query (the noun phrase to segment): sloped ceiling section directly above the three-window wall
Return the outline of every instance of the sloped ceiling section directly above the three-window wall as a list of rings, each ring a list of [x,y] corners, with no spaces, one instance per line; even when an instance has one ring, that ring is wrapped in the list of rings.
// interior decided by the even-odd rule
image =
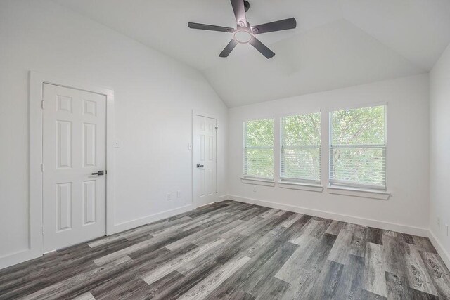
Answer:
[[[346,20],[278,41],[271,48],[277,55],[270,62],[248,53],[226,66],[203,71],[226,105],[236,107],[427,72]],[[236,72],[240,68],[243,72]]]

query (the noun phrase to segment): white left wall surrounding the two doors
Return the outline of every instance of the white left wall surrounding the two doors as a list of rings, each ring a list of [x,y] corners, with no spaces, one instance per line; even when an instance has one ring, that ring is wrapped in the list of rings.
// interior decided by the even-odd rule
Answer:
[[[120,230],[192,202],[192,110],[219,116],[224,195],[227,108],[204,77],[51,1],[0,1],[0,266],[28,247],[28,71],[115,91]],[[182,197],[167,202],[166,193]],[[138,221],[136,221],[138,220]]]

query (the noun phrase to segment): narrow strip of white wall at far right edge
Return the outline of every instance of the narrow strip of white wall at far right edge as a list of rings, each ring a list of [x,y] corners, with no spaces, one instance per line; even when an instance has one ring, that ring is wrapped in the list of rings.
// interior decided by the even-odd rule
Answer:
[[[430,231],[450,266],[450,46],[430,72]],[[441,225],[437,225],[440,218]],[[437,247],[437,248],[439,248]]]

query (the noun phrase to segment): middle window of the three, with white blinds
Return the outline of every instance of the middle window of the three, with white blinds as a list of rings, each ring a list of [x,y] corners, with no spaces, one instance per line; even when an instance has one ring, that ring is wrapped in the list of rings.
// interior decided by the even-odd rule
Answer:
[[[281,118],[281,181],[321,183],[321,113]]]

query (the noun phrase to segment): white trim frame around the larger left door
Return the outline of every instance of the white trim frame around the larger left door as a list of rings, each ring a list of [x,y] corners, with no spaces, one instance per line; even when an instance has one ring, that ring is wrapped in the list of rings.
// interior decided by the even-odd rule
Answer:
[[[105,234],[113,231],[114,227],[114,178],[115,178],[115,160],[114,160],[114,137],[115,137],[115,115],[114,115],[114,91],[102,86],[94,86],[83,82],[64,79],[55,76],[41,74],[39,72],[29,72],[29,243],[28,249],[21,252],[23,255],[17,257],[17,261],[8,263],[10,265],[20,261],[26,261],[41,256],[44,249],[44,234],[42,228],[43,219],[43,173],[41,164],[43,162],[43,110],[41,109],[41,101],[44,96],[44,84],[53,84],[71,89],[79,89],[89,91],[91,93],[99,93],[106,97],[106,224]],[[1,266],[0,266],[1,267]]]

